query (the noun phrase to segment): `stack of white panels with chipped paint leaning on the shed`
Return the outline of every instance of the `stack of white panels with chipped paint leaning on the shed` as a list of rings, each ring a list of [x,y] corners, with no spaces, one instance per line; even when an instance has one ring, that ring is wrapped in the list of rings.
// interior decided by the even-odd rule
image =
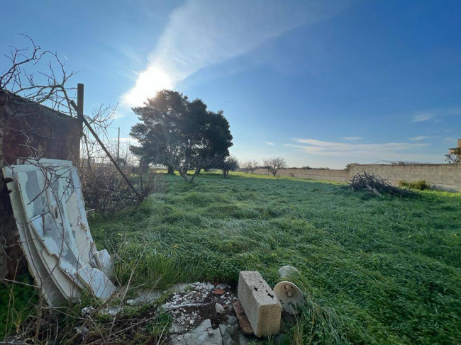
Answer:
[[[115,287],[109,252],[96,251],[77,169],[70,161],[18,160],[5,166],[13,213],[30,273],[48,304],[78,298],[82,289],[108,298]]]

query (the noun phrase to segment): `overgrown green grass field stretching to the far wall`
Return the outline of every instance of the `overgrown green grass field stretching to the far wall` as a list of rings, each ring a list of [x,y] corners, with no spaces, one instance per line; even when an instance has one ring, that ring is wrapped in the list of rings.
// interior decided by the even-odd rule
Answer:
[[[461,195],[378,198],[344,185],[234,173],[201,174],[112,220],[91,220],[117,275],[166,286],[236,283],[283,265],[307,304],[289,330],[300,344],[459,344]]]

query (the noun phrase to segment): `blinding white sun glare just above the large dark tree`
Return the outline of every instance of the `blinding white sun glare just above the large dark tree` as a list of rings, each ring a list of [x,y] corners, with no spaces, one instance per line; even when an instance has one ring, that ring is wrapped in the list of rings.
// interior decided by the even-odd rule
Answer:
[[[130,106],[141,106],[157,91],[172,87],[172,79],[159,67],[152,66],[139,74],[135,87],[123,96],[123,101]]]

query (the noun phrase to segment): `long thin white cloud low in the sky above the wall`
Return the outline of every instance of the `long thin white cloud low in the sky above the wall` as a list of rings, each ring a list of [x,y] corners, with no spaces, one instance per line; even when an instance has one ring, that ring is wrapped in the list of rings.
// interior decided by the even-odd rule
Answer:
[[[385,142],[382,144],[361,144],[355,142],[326,142],[316,139],[294,139],[287,147],[301,149],[307,154],[338,157],[360,157],[367,159],[404,159],[414,160],[421,157],[423,150],[430,144],[410,142]],[[416,155],[415,155],[416,154]],[[416,158],[415,158],[416,157]]]

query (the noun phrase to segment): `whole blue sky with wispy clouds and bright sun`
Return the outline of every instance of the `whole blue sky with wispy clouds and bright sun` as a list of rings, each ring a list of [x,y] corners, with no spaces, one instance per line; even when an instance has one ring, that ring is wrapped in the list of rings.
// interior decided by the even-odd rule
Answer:
[[[128,137],[130,107],[162,88],[222,109],[240,160],[436,163],[461,137],[460,1],[44,0],[1,11],[1,52],[26,45],[24,33],[65,57],[86,113],[118,103],[113,137]]]

